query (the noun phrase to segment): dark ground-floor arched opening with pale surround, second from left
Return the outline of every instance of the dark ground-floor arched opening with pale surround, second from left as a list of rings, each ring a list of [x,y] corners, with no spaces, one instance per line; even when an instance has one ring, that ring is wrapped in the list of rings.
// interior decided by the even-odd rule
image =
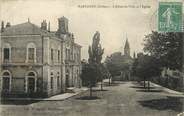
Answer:
[[[37,76],[36,73],[30,71],[26,74],[26,93],[34,93],[37,90]]]

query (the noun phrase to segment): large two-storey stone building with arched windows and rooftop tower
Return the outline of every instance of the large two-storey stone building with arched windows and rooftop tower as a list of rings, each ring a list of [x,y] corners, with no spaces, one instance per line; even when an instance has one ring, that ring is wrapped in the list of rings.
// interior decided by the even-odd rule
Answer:
[[[2,95],[52,96],[81,86],[81,46],[67,18],[58,19],[57,31],[46,20],[41,27],[2,22],[0,45]]]

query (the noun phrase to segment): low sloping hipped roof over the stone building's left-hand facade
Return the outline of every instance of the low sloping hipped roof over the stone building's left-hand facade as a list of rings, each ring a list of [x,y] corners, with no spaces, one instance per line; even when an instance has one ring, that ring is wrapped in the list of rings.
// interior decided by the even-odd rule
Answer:
[[[48,31],[41,29],[39,26],[32,24],[30,22],[21,23],[7,27],[2,32],[2,35],[40,35],[49,34]]]

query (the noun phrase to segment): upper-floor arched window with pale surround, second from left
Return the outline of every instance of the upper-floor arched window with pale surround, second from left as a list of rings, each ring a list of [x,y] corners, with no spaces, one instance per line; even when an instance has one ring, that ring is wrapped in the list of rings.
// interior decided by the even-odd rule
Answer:
[[[34,43],[29,43],[27,45],[26,62],[36,62],[36,46]]]

